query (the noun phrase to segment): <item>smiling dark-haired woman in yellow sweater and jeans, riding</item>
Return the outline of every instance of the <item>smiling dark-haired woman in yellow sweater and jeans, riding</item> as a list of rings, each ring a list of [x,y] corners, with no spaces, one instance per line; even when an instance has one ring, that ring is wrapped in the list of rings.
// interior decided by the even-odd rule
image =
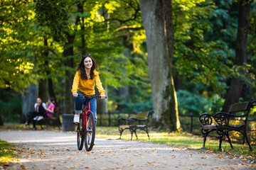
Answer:
[[[92,59],[90,54],[82,55],[82,60],[78,64],[77,72],[75,73],[75,78],[73,80],[73,86],[71,92],[73,93],[73,98],[75,100],[75,115],[74,123],[78,124],[80,120],[80,114],[82,113],[82,104],[85,98],[78,98],[78,95],[85,96],[95,96],[95,84],[100,93],[100,98],[105,99],[105,90],[102,87],[100,81],[99,72],[95,69],[97,64]],[[92,98],[90,100],[90,110],[95,115],[95,122],[97,122],[97,106],[96,99]]]

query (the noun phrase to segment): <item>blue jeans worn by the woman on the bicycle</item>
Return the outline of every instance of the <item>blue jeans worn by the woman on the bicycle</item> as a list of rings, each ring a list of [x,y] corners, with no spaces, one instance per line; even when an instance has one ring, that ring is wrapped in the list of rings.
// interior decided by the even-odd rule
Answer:
[[[78,94],[80,95],[84,95],[82,94],[80,91],[78,91]],[[95,96],[95,95],[93,95]],[[77,98],[77,97],[73,97],[75,100],[75,113],[82,113],[82,105],[85,102],[85,98]],[[87,103],[86,103],[87,105]],[[95,116],[95,123],[97,124],[97,101],[96,98],[91,98],[90,99],[90,110],[92,111],[92,113]]]

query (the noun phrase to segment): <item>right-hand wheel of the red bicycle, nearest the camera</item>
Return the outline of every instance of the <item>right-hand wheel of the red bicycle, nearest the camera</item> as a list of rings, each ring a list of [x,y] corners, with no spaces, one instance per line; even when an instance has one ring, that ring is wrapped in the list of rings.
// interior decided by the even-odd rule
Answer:
[[[87,129],[85,130],[85,149],[89,152],[95,142],[95,116],[92,112],[87,113]]]

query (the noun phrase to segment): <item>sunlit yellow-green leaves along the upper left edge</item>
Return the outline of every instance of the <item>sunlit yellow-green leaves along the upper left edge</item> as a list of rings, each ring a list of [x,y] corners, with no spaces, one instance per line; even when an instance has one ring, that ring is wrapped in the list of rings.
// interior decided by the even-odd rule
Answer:
[[[27,1],[2,1],[0,6],[0,88],[22,91],[35,83],[31,18]]]

